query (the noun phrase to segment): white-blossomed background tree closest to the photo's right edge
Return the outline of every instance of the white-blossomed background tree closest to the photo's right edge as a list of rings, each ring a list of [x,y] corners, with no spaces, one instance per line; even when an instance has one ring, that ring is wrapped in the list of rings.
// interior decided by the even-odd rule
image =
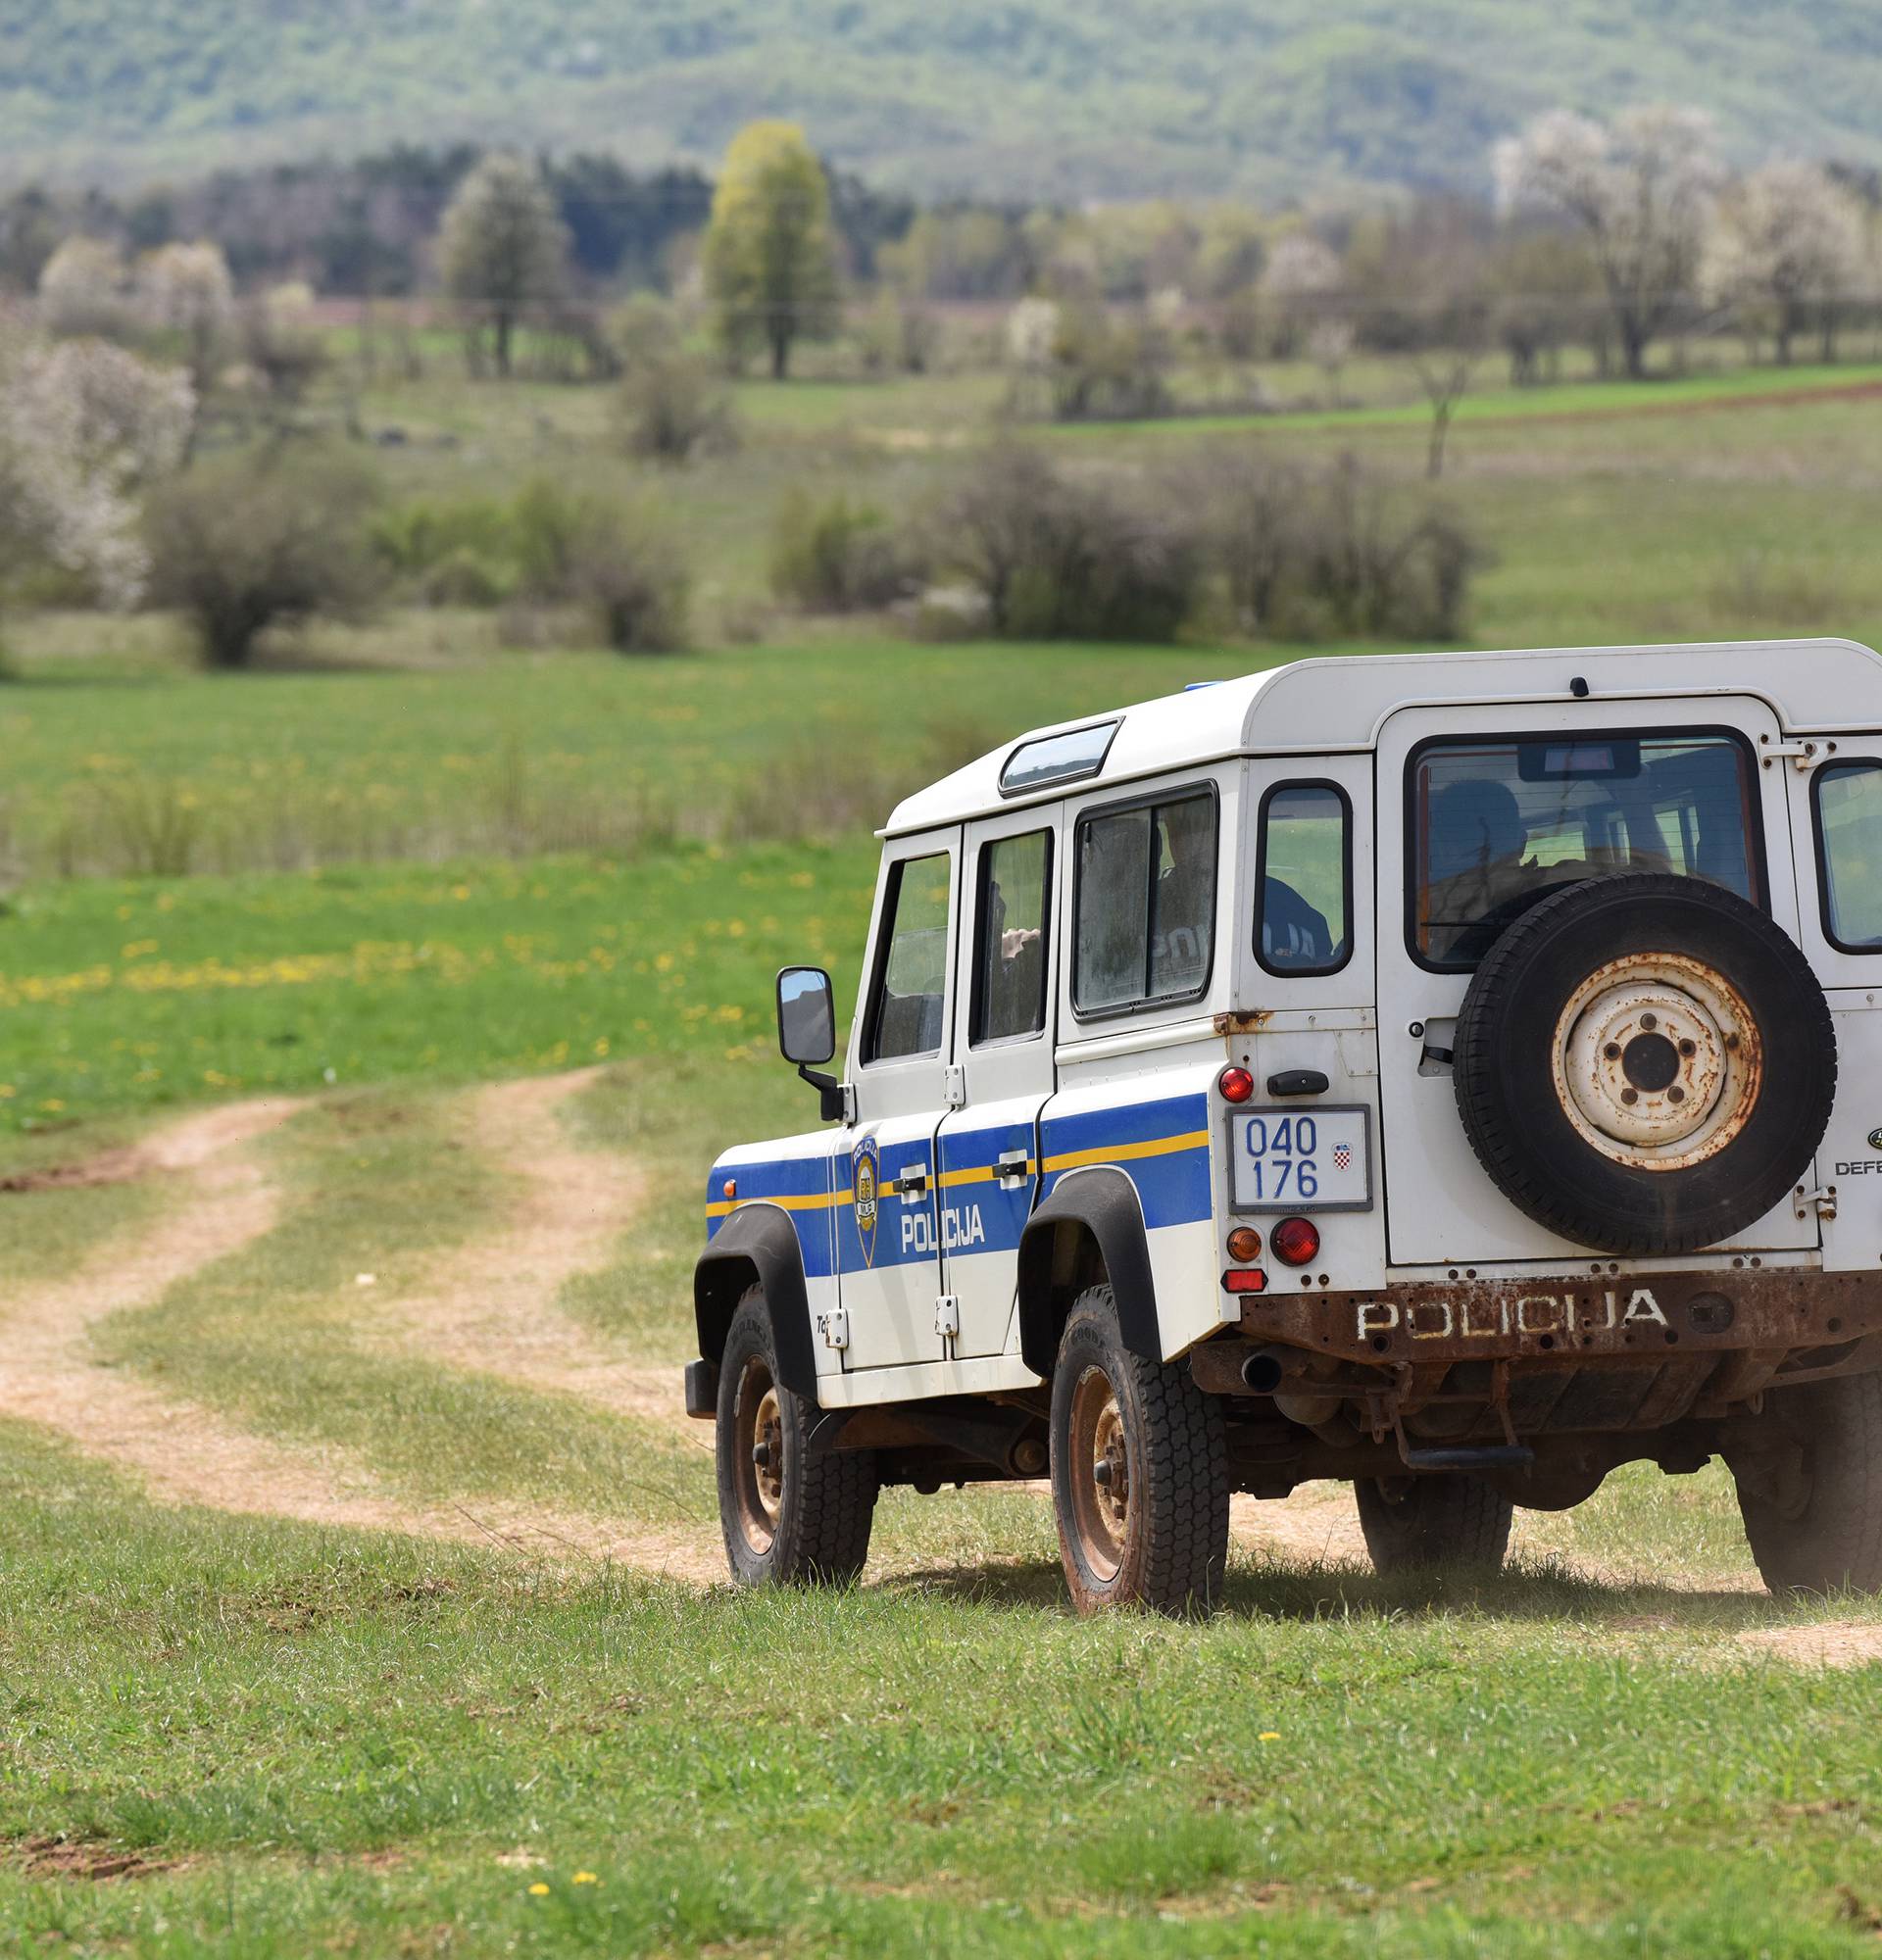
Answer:
[[[1835,351],[1841,302],[1860,296],[1866,274],[1862,214],[1813,163],[1776,161],[1753,171],[1719,206],[1708,253],[1708,288],[1749,323],[1768,323],[1778,361],[1811,318]]]

